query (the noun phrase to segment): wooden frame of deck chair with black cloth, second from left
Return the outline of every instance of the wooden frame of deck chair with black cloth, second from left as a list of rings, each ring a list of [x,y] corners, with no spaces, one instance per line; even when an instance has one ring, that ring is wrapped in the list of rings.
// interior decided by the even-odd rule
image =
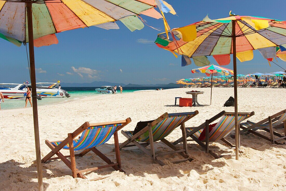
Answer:
[[[190,158],[190,156],[188,155],[188,147],[187,147],[187,141],[186,141],[186,131],[185,131],[185,122],[187,120],[189,120],[190,118],[194,117],[195,115],[198,114],[198,111],[196,110],[195,112],[192,112],[193,115],[187,117],[185,120],[182,121],[182,123],[180,124],[180,126],[182,127],[182,137],[184,137],[183,139],[183,149],[178,149],[176,148],[175,145],[173,145],[171,142],[167,141],[165,138],[160,139],[160,141],[162,141],[165,145],[167,145],[168,147],[170,147],[171,149],[173,149],[174,151],[170,151],[170,152],[165,152],[165,153],[159,153],[156,154],[155,153],[155,149],[154,149],[154,141],[153,141],[153,134],[152,134],[152,127],[154,127],[156,124],[158,124],[160,121],[162,121],[164,118],[168,117],[168,113],[164,113],[162,116],[160,116],[159,118],[157,118],[156,120],[154,120],[151,123],[148,123],[148,125],[146,127],[144,127],[142,130],[140,130],[138,133],[136,133],[135,135],[133,135],[132,137],[130,137],[129,135],[127,135],[126,132],[124,132],[123,130],[121,131],[121,133],[127,138],[127,140],[122,143],[119,146],[119,149],[122,148],[126,148],[126,147],[134,147],[137,146],[139,149],[141,149],[144,153],[146,153],[147,155],[149,155],[150,157],[152,157],[152,159],[154,161],[156,161],[157,163],[159,163],[160,165],[165,165],[165,163],[163,161],[161,161],[160,159],[158,159],[159,156],[164,156],[164,155],[168,155],[168,154],[174,154],[174,153],[178,153],[179,155],[182,155],[184,157],[184,159],[180,159],[180,160],[176,160],[176,161],[172,161],[172,163],[179,163],[179,162],[183,162],[183,161],[191,161],[192,158]],[[145,143],[138,143],[136,141],[136,139],[138,137],[140,137],[140,135],[142,135],[143,133],[145,133],[146,131],[149,131],[149,139],[150,142],[145,142]],[[129,143],[133,143],[133,145],[128,145]],[[146,147],[150,145],[150,150],[146,149]]]

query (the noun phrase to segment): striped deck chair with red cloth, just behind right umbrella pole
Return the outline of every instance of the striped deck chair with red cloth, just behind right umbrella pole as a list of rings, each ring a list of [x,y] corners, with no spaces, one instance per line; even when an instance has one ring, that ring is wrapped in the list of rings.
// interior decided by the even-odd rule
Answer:
[[[251,113],[241,113],[238,112],[238,123],[241,123],[243,120],[249,118],[250,116],[253,116],[254,112]],[[215,120],[219,119],[219,122],[212,128],[212,130],[209,132],[209,124],[214,122]],[[200,137],[200,134],[202,131],[206,129],[206,136],[205,139],[200,141],[198,138]],[[235,129],[235,116],[234,112],[225,112],[222,111],[216,116],[210,118],[209,120],[206,120],[203,124],[201,124],[198,127],[186,127],[186,136],[191,137],[192,139],[189,139],[187,141],[196,141],[201,147],[203,147],[206,151],[206,153],[210,153],[213,157],[216,159],[228,155],[228,154],[221,154],[217,155],[213,151],[215,150],[229,150],[229,149],[235,149],[235,146],[232,145],[229,141],[225,139],[229,133]],[[224,147],[224,148],[209,148],[209,142],[215,142],[221,140],[230,147]],[[175,141],[173,144],[176,145],[183,141],[183,137]],[[203,143],[205,142],[205,144]],[[231,155],[233,156],[233,155]]]

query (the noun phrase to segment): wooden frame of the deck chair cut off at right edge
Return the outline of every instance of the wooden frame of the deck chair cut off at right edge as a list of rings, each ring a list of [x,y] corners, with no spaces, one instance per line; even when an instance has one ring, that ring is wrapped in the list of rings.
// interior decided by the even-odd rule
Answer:
[[[277,142],[278,140],[281,140],[281,139],[284,139],[286,140],[286,120],[283,121],[282,124],[278,124],[277,126],[275,126],[275,128],[280,128],[280,127],[284,127],[284,136],[273,131],[273,126],[272,126],[272,123],[279,120],[280,116],[283,115],[284,113],[286,113],[286,109],[281,111],[281,112],[278,112],[277,114],[274,114],[272,116],[269,116],[268,118],[264,119],[264,120],[261,120],[249,127],[245,127],[243,126],[242,124],[240,124],[240,128],[242,129],[240,131],[240,134],[245,134],[247,132],[249,133],[252,133],[254,135],[257,135],[258,137],[261,137],[263,139],[266,139],[267,141],[271,141],[272,144],[277,144],[277,145],[284,145],[283,143],[279,143]],[[262,135],[261,133],[257,132],[256,130],[253,130],[253,128],[259,126],[259,125],[262,125],[262,124],[266,124],[266,123],[269,123],[269,129],[268,128],[260,128],[260,130],[264,130],[266,132],[269,132],[270,133],[270,139],[269,137],[266,137],[264,135]],[[258,130],[258,129],[257,129]],[[274,135],[279,137],[277,139],[274,138]]]

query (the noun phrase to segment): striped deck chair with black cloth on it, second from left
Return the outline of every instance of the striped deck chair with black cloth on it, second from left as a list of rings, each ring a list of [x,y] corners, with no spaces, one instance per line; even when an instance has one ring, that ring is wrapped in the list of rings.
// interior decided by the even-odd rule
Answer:
[[[175,145],[170,143],[165,139],[175,128],[178,126],[185,127],[185,122],[190,118],[194,117],[198,114],[198,111],[194,112],[187,112],[187,113],[164,113],[162,116],[157,118],[151,123],[148,123],[146,127],[140,130],[138,133],[133,135],[133,131],[121,131],[121,133],[128,139],[124,143],[122,143],[119,148],[122,149],[124,147],[133,147],[137,146],[141,149],[144,153],[152,157],[154,161],[159,163],[160,165],[165,165],[163,161],[158,159],[158,156],[178,153],[184,157],[184,159],[180,159],[177,161],[172,161],[172,163],[179,163],[182,161],[192,160],[187,154],[187,142],[186,139],[183,141],[183,149],[177,149]],[[185,128],[182,128],[182,136],[186,138]],[[168,147],[173,149],[174,151],[166,152],[166,153],[158,153],[155,154],[154,150],[154,142],[162,141]],[[142,143],[138,143],[142,142]],[[133,143],[133,145],[128,145]],[[146,147],[150,145],[150,149],[146,149]]]

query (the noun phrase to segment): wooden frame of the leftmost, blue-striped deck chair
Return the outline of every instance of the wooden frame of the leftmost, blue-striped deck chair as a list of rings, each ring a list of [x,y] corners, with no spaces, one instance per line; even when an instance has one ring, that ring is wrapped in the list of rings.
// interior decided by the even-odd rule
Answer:
[[[104,122],[104,123],[93,123],[90,124],[89,122],[85,122],[82,126],[80,126],[77,130],[75,130],[73,133],[68,133],[67,138],[57,146],[54,146],[52,142],[58,142],[58,141],[48,141],[46,140],[45,143],[46,145],[51,149],[51,151],[41,160],[42,163],[45,163],[46,161],[51,161],[55,159],[61,159],[67,167],[69,167],[72,170],[72,176],[73,178],[84,178],[87,179],[85,176],[83,176],[82,173],[87,172],[87,171],[93,171],[93,170],[98,170],[102,168],[107,168],[107,167],[112,167],[115,170],[119,170],[120,172],[125,172],[124,170],[121,169],[121,159],[120,159],[120,151],[119,151],[119,143],[118,143],[118,134],[117,132],[122,129],[124,126],[126,126],[128,123],[131,122],[130,118],[127,118],[126,120],[121,120],[121,121],[112,121],[112,122]],[[114,136],[114,146],[115,146],[115,155],[116,155],[116,163],[112,162],[108,157],[106,157],[103,153],[101,153],[98,149],[95,147],[93,148],[88,148],[84,149],[82,152],[75,154],[74,153],[74,145],[73,145],[73,140],[76,140],[75,138],[80,135],[84,130],[86,130],[88,127],[94,127],[94,126],[104,126],[104,125],[112,125],[112,124],[122,124],[117,128],[113,134]],[[69,144],[69,154],[67,156],[64,156],[60,150],[65,146]],[[76,159],[75,157],[77,156],[84,156],[86,155],[89,151],[94,152],[98,157],[100,157],[102,160],[104,160],[107,165],[104,166],[99,166],[99,167],[93,167],[93,168],[88,168],[84,170],[79,170],[76,168]],[[53,155],[57,155],[57,157],[53,157]],[[52,158],[53,157],[53,158]],[[70,161],[67,159],[70,158]],[[96,178],[92,180],[99,180],[101,178]],[[92,181],[91,180],[91,181]]]

